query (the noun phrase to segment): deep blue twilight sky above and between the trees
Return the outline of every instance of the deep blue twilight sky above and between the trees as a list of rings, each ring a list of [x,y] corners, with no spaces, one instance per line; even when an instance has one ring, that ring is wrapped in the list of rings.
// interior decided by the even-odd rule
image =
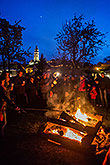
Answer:
[[[110,0],[0,0],[0,17],[11,24],[22,20],[24,49],[31,46],[34,55],[36,45],[40,55],[50,60],[56,52],[54,38],[65,20],[84,14],[85,21],[94,19],[101,32],[108,32],[110,44]],[[94,60],[102,61],[110,55],[110,48],[104,48]]]

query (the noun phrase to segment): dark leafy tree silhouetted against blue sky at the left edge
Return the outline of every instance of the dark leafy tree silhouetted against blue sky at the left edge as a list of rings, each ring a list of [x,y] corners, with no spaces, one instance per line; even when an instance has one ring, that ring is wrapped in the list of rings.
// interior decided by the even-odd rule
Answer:
[[[6,61],[10,71],[10,62],[25,61],[26,57],[30,57],[29,49],[24,51],[22,48],[22,31],[24,27],[19,25],[21,21],[11,25],[6,19],[0,18],[0,56],[3,62],[4,71],[6,69]]]

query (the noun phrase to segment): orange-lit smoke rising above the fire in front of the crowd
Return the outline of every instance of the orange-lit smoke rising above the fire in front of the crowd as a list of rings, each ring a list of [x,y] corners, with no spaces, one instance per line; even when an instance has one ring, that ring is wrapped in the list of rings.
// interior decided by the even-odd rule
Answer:
[[[96,113],[95,108],[91,105],[86,94],[78,91],[79,82],[74,87],[72,83],[64,84],[64,81],[59,80],[59,83],[52,88],[53,96],[47,97],[47,105],[52,111],[47,111],[47,117],[58,118],[62,111],[72,114],[80,108],[81,112],[87,114]]]

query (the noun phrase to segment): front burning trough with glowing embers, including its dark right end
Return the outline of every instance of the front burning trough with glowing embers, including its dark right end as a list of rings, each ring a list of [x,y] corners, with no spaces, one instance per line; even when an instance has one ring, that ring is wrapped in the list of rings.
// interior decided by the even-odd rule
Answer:
[[[70,149],[91,150],[91,142],[95,134],[91,137],[86,132],[59,124],[59,121],[48,121],[41,130],[42,136],[48,141],[65,146]]]

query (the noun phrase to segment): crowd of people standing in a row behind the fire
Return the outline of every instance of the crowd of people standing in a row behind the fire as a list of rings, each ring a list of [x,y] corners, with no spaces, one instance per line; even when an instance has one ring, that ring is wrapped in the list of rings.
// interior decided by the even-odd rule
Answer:
[[[7,111],[10,107],[18,112],[24,107],[52,107],[65,100],[72,108],[88,100],[93,106],[108,108],[110,102],[110,79],[104,73],[92,76],[68,75],[57,76],[44,73],[31,76],[19,71],[16,77],[10,78],[9,72],[0,76],[0,122],[4,121],[2,134],[7,123]],[[7,110],[8,109],[8,110]]]

